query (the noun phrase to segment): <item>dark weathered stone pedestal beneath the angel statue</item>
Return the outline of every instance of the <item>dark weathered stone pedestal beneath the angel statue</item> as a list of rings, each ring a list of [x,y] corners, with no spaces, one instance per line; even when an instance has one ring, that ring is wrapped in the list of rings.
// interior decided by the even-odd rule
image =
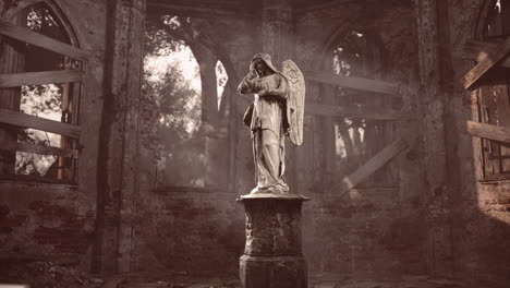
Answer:
[[[240,259],[243,288],[306,288],[296,194],[248,194],[238,201],[246,213],[246,244]]]

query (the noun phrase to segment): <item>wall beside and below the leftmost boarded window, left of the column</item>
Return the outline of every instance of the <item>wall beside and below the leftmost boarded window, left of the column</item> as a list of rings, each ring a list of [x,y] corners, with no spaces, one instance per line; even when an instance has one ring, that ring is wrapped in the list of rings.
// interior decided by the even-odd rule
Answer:
[[[96,167],[105,61],[106,3],[59,0],[89,51],[82,94],[83,149],[77,185],[0,182],[0,262],[13,259],[80,264],[88,271],[96,204]]]

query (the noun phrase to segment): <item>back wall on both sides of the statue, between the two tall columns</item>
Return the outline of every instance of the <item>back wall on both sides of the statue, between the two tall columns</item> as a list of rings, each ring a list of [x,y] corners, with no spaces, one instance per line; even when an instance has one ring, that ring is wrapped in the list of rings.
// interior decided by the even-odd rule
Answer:
[[[320,60],[317,56],[338,31],[371,29],[378,35],[385,51],[381,77],[401,83],[402,106],[417,109],[414,11],[411,5],[397,5],[379,12],[375,17],[367,17],[359,14],[359,9],[338,8],[300,14],[295,19],[293,60],[304,71],[314,69],[314,61]],[[209,33],[224,46],[220,49],[226,49],[228,59],[221,61],[231,64],[228,73],[235,85],[262,47],[260,26],[255,16],[214,20],[212,23],[215,28]],[[232,25],[239,29],[227,28]],[[139,201],[144,207],[138,207],[135,221],[137,268],[157,266],[175,272],[236,274],[238,257],[244,244],[244,213],[235,197],[253,188],[254,167],[250,134],[241,122],[250,99],[235,94],[234,97],[236,108],[232,109],[235,111],[232,118],[235,124],[230,130],[235,147],[231,151],[234,185],[222,193],[197,189],[157,192],[150,185],[154,176],[147,169]],[[317,101],[313,89],[307,97],[312,103]],[[416,118],[402,119],[398,122],[399,133],[417,131],[418,124]],[[306,116],[305,143],[296,148],[298,176],[291,176],[295,179],[291,189],[312,199],[304,204],[303,217],[304,251],[311,274],[332,273],[337,279],[427,274],[426,205],[420,146],[413,144],[394,159],[400,175],[400,184],[394,189],[354,190],[343,195],[325,193],[314,189],[309,180],[314,173],[311,158],[312,143],[316,141],[314,125],[314,117]]]

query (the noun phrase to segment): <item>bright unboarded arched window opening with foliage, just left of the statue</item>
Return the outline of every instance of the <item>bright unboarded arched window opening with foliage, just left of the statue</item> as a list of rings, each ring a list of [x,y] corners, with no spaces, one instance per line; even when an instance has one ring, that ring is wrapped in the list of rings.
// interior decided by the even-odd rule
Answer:
[[[148,15],[146,22],[144,92],[160,113],[157,189],[217,187],[221,177],[212,171],[227,170],[218,169],[228,158],[218,154],[227,141],[229,77],[211,48],[195,40],[201,31],[193,21]]]

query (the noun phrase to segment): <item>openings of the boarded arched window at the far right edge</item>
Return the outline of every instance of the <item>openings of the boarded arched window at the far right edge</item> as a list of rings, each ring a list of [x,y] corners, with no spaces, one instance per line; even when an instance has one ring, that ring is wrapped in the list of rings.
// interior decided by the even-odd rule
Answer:
[[[485,43],[500,43],[510,36],[510,0],[484,3],[475,37]],[[481,80],[478,121],[510,128],[510,73],[495,67]],[[510,179],[510,144],[482,139],[484,180]]]

